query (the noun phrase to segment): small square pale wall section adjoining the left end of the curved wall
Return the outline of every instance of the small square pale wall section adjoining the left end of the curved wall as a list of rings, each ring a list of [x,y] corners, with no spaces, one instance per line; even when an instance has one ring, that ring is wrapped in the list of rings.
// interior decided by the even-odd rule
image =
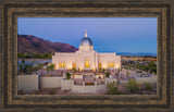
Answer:
[[[70,90],[72,89],[72,79],[62,79],[61,80],[61,90]]]

